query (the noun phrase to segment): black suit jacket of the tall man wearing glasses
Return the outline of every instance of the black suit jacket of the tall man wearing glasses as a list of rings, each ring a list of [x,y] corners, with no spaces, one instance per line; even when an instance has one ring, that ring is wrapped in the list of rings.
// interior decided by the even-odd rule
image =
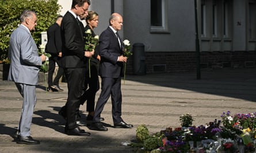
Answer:
[[[87,58],[84,56],[85,41],[83,40],[83,27],[69,11],[64,15],[61,24],[62,35],[62,66],[64,68],[82,68],[86,66]]]

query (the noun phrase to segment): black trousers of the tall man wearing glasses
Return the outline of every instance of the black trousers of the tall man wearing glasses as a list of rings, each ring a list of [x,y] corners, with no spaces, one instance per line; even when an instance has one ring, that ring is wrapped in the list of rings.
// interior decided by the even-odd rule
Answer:
[[[77,127],[77,111],[81,104],[82,83],[84,83],[86,68],[65,68],[67,78],[68,97],[66,103],[67,129]]]

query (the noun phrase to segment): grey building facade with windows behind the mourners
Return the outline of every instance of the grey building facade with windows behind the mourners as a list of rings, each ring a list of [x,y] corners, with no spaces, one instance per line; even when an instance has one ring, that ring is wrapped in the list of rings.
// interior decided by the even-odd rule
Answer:
[[[67,0],[59,3],[63,14],[70,9]],[[99,35],[111,13],[123,15],[120,36],[135,45],[127,73],[143,74],[254,67],[255,7],[256,0],[91,0],[90,10],[99,14]]]

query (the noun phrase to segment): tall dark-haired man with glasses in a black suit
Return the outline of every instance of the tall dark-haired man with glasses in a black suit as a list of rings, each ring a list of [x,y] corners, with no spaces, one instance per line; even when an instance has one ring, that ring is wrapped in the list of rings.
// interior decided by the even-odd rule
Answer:
[[[76,123],[87,57],[94,54],[94,51],[84,50],[83,27],[78,19],[78,15],[87,14],[89,5],[89,0],[73,0],[71,10],[68,10],[62,19],[62,66],[68,85],[68,97],[65,105],[67,118],[65,133],[67,135],[90,135],[89,132],[81,130]]]

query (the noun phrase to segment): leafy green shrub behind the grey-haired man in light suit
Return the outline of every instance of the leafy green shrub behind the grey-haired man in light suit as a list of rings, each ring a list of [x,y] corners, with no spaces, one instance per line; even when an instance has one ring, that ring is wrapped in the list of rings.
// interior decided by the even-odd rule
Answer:
[[[37,26],[32,36],[39,46],[41,32],[45,32],[54,22],[61,6],[58,0],[6,0],[0,2],[0,61],[6,61],[8,56],[10,34],[20,23],[23,10],[33,10],[37,13]]]

